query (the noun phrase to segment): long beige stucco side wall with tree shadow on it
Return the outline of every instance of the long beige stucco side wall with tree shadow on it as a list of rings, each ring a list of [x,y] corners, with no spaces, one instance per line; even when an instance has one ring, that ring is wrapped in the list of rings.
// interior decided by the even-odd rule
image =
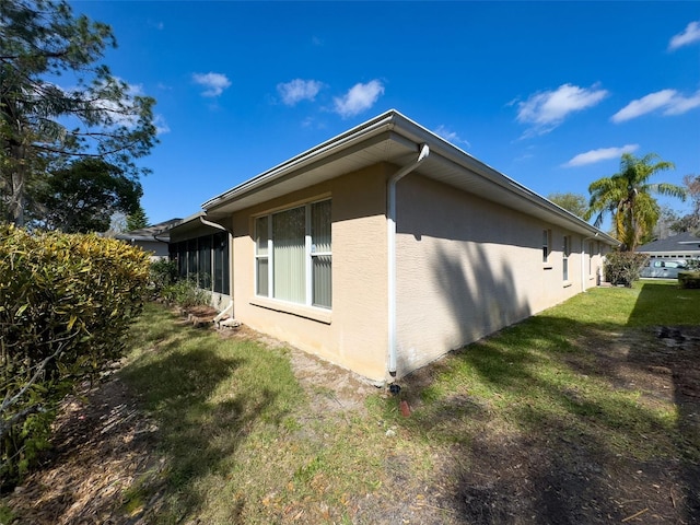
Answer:
[[[545,229],[551,230],[547,265]],[[567,234],[572,253],[564,282]],[[581,242],[581,235],[417,174],[399,182],[398,375],[580,292]],[[595,284],[595,275],[585,278],[586,287]]]

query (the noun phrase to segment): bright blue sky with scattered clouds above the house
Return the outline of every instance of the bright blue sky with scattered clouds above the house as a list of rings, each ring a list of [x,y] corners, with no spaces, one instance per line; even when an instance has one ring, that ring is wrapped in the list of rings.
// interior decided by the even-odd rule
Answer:
[[[544,196],[587,197],[626,151],[700,175],[699,2],[71,4],[158,101],[152,223],[390,108]]]

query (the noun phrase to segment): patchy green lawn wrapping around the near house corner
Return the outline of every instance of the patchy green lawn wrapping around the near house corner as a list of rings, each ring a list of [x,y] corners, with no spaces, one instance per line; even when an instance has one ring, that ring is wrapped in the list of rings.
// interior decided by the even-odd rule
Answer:
[[[396,499],[397,480],[404,490],[436,483],[445,456],[483,439],[546,440],[564,462],[585,450],[698,463],[700,442],[673,400],[625,384],[591,349],[630,334],[651,341],[656,325],[700,325],[698,292],[669,282],[590,290],[451,354],[427,386],[407,381],[410,418],[380,394],[366,412],[314,410],[310,395],[329,394],[304,390],[283,349],[149,306],[120,374],[159,422],[164,466],[125,494],[125,513],[159,493],[149,523],[372,523],[358,509]]]

